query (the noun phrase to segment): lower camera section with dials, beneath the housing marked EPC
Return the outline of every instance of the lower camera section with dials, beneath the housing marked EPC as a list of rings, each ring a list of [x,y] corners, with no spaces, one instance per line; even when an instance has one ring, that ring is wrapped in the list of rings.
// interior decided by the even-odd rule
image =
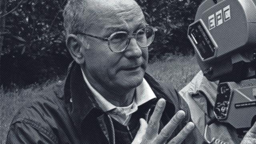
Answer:
[[[256,121],[256,79],[220,83],[214,114],[219,122],[231,124],[244,135]]]

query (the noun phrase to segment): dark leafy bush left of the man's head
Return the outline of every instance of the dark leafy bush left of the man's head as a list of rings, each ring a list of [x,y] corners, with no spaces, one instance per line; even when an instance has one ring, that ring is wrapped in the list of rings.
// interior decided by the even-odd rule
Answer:
[[[66,50],[62,10],[66,0],[8,0],[0,82],[20,86],[65,74]]]

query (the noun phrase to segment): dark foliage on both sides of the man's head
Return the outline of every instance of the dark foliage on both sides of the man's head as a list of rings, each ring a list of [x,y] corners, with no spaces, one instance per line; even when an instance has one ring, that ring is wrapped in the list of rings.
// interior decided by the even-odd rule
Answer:
[[[202,0],[136,0],[155,26],[150,60],[166,54],[193,54],[186,33]],[[6,32],[0,54],[4,88],[42,83],[66,74],[72,58],[66,50],[62,11],[67,0],[8,0]],[[4,12],[0,12],[0,16]]]

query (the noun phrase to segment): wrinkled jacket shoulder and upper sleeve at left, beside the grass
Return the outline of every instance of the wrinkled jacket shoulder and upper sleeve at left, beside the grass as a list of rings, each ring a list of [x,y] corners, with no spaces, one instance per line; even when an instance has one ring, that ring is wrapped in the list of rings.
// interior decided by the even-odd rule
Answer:
[[[12,119],[7,143],[16,143],[16,140],[21,143],[58,142],[54,129],[67,116],[59,90],[60,86],[52,84],[44,90],[26,93],[29,98],[21,102],[21,108]]]

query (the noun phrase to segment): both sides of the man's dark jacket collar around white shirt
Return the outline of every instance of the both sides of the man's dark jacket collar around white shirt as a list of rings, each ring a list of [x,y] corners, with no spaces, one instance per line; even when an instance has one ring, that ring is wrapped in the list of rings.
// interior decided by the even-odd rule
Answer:
[[[173,97],[170,96],[172,94],[164,91],[159,83],[156,82],[150,75],[145,74],[144,78],[152,88],[157,99],[164,98],[170,105],[173,105],[173,102],[170,99]],[[167,96],[170,97],[168,98]],[[84,118],[86,118],[86,116],[88,116],[88,114],[91,112],[93,112],[93,116],[95,117],[99,117],[104,114],[104,112],[97,106],[95,100],[93,99],[92,92],[84,82],[80,65],[74,61],[68,68],[68,75],[66,77],[66,83],[64,86],[64,100],[68,106],[70,116],[78,129]],[[156,99],[150,100],[147,103],[151,103],[152,101],[156,102]]]

